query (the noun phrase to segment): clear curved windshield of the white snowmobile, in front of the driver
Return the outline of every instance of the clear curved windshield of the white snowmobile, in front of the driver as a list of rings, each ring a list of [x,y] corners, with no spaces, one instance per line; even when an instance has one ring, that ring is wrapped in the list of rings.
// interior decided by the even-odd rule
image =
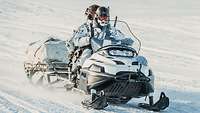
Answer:
[[[106,46],[120,45],[133,48],[137,53],[141,46],[139,39],[131,32],[126,22],[112,20],[106,30],[94,34],[91,45],[94,52]]]

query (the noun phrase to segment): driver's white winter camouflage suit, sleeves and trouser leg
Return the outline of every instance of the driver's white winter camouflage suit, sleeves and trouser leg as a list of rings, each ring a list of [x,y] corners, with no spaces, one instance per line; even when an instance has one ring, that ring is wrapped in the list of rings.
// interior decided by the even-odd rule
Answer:
[[[92,54],[92,49],[88,47],[90,45],[90,38],[101,37],[100,35],[104,35],[105,34],[104,32],[106,31],[106,26],[103,27],[102,30],[98,27],[94,27],[94,26],[92,27],[94,28],[94,37],[91,37],[90,23],[86,22],[78,28],[73,38],[71,39],[75,47],[84,48],[82,55],[80,56],[79,61],[78,61],[78,65],[80,66],[84,63],[86,58],[89,58]],[[122,42],[122,40],[127,39],[125,38],[124,34],[119,32],[114,27],[111,27],[109,29],[109,32],[110,32],[110,37],[113,37],[114,40]],[[105,38],[105,35],[102,37]],[[109,39],[109,40],[113,40],[113,39]],[[130,40],[126,40],[126,41],[129,41],[130,43]]]

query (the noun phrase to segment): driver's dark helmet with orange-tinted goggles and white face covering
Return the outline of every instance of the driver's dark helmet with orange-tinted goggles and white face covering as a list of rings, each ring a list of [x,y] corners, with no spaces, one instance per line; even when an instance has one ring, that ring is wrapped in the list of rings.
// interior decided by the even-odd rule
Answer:
[[[106,7],[99,7],[96,11],[96,18],[99,25],[107,25],[109,20],[109,9]]]

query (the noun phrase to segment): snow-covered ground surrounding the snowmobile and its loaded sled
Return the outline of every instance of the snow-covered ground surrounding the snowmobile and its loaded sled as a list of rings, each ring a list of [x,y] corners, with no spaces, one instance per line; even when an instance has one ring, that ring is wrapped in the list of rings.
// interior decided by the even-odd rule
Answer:
[[[108,1],[108,2],[107,2]],[[156,75],[156,93],[170,98],[166,113],[200,113],[200,1],[198,0],[0,0],[1,113],[144,113],[132,99],[105,110],[81,107],[83,95],[31,86],[23,70],[27,45],[47,36],[68,39],[85,21],[84,10],[110,6],[142,41]]]

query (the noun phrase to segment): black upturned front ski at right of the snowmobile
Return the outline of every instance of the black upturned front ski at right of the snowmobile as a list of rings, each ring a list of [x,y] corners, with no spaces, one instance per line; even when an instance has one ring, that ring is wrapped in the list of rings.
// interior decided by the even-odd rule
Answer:
[[[153,97],[151,97],[149,98],[149,104],[139,103],[138,106],[143,109],[159,112],[169,106],[169,98],[165,96],[164,92],[161,92],[160,99],[155,104],[153,104]]]

